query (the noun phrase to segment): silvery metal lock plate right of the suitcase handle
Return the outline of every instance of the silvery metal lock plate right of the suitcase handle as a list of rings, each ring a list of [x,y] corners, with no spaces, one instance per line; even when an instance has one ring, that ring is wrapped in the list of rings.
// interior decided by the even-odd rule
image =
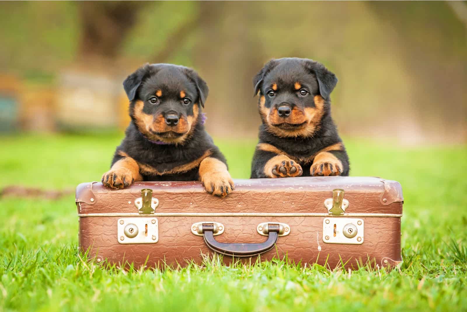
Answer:
[[[363,244],[363,219],[324,218],[323,241],[329,244]]]

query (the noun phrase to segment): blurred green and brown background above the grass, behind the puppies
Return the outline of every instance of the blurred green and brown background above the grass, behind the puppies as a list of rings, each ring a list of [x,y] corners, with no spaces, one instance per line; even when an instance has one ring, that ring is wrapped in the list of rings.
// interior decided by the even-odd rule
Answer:
[[[123,79],[175,63],[207,81],[211,134],[255,138],[252,77],[271,58],[307,57],[339,78],[343,135],[465,142],[466,11],[465,1],[3,1],[0,128],[123,129]]]

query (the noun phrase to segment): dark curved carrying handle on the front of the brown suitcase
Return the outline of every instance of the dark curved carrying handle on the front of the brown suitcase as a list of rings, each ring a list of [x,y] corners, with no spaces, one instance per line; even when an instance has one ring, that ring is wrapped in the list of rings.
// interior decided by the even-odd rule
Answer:
[[[207,247],[221,253],[236,257],[260,255],[274,247],[279,237],[279,224],[268,224],[268,239],[262,243],[221,243],[214,238],[214,224],[202,224],[202,233]]]

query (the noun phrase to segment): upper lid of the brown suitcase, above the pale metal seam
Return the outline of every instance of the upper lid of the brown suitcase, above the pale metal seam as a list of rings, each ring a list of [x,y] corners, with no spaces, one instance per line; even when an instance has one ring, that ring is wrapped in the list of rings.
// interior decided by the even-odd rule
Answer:
[[[343,215],[402,215],[402,187],[378,177],[289,177],[234,180],[225,198],[207,193],[200,182],[135,182],[125,189],[109,189],[100,182],[79,184],[78,215],[290,215],[326,216],[333,207],[333,190],[343,190],[348,205]],[[152,208],[142,209],[142,189],[152,190]],[[342,193],[337,191],[337,193]],[[337,195],[336,193],[336,195]],[[146,193],[148,194],[148,193]],[[149,195],[146,195],[149,196]],[[325,201],[327,200],[326,204]],[[334,200],[335,201],[335,200]],[[334,205],[339,206],[339,205]],[[142,210],[140,210],[142,209]]]

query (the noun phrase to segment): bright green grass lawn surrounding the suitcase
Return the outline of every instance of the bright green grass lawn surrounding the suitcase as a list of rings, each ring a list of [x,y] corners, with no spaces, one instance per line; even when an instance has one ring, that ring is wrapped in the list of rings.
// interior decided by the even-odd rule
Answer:
[[[121,133],[0,137],[0,188],[74,188],[99,180]],[[351,273],[283,261],[124,271],[77,253],[74,196],[0,199],[0,311],[467,310],[467,147],[400,147],[347,139],[353,176],[403,186],[399,270]],[[236,178],[255,140],[217,140]]]

